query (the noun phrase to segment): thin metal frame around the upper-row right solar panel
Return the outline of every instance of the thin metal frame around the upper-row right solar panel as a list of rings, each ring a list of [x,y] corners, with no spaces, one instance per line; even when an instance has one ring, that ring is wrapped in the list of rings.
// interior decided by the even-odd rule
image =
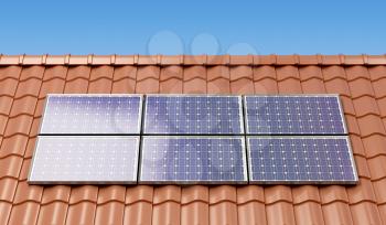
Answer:
[[[247,115],[247,97],[335,97],[337,105],[339,105],[339,111],[340,117],[342,120],[343,126],[343,133],[258,133],[258,132],[250,132],[248,127],[248,115]],[[311,136],[344,136],[349,133],[347,125],[344,117],[343,111],[343,105],[342,100],[340,98],[340,94],[275,94],[275,95],[267,95],[267,94],[254,94],[254,95],[244,95],[243,96],[243,108],[244,108],[244,120],[245,120],[245,133],[246,135],[278,135],[278,136],[293,136],[293,135],[311,135]]]

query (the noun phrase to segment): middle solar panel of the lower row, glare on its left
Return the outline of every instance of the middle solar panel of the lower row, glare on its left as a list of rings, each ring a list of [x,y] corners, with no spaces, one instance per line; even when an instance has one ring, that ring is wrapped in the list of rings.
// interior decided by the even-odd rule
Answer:
[[[143,137],[141,183],[246,183],[244,138]]]

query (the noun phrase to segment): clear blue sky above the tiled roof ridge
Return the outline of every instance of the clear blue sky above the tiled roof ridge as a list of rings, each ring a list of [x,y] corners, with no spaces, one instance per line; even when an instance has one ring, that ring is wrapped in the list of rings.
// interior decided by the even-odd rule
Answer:
[[[386,1],[1,1],[3,54],[385,54]]]

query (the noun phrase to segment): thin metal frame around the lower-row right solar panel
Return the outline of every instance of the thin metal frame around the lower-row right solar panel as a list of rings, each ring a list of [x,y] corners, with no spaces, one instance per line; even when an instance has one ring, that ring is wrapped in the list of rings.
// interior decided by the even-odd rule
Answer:
[[[253,158],[250,156],[250,139],[344,139],[347,143],[350,162],[354,180],[254,180],[253,179]],[[352,150],[352,144],[349,136],[248,136],[246,138],[247,162],[248,162],[248,180],[249,184],[356,184],[358,182],[358,174],[356,163]]]

